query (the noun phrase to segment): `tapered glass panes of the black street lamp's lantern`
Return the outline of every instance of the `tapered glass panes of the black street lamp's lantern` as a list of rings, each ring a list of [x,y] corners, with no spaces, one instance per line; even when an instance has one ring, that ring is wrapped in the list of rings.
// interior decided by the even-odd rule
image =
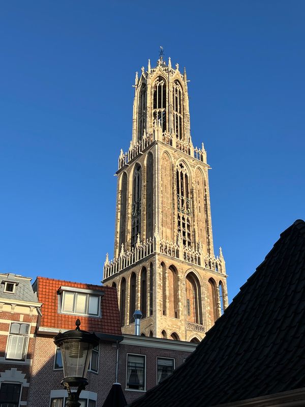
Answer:
[[[93,345],[79,340],[64,342],[60,346],[65,377],[86,377]]]

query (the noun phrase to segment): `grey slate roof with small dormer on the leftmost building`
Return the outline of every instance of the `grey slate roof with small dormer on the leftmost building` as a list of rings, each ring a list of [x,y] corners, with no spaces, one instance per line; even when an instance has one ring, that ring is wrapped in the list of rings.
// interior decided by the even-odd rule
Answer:
[[[23,277],[18,274],[0,274],[0,297],[7,298],[12,301],[28,301],[28,302],[38,302],[37,295],[33,292],[32,278]],[[5,282],[15,282],[16,287],[14,293],[4,293]]]

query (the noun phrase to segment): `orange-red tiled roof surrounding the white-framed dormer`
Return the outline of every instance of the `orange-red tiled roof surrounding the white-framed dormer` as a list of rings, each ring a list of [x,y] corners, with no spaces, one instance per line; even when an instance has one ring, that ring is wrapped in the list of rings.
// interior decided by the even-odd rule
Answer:
[[[105,294],[101,300],[102,316],[97,318],[84,315],[67,315],[58,313],[57,290],[62,285],[103,291]],[[79,318],[81,322],[80,328],[85,331],[121,335],[116,288],[114,287],[37,277],[37,296],[39,302],[43,303],[41,308],[41,327],[74,329],[75,321]]]

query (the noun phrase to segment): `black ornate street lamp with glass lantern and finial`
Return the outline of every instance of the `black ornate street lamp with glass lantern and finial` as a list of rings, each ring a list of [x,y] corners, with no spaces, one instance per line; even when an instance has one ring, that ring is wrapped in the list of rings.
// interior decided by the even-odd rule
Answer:
[[[88,384],[86,379],[92,350],[99,344],[99,338],[94,333],[79,329],[79,319],[75,322],[76,329],[64,333],[59,332],[54,338],[56,346],[60,347],[63,358],[64,379],[62,385],[68,391],[67,407],[79,407],[80,392]],[[76,392],[71,387],[77,387]]]

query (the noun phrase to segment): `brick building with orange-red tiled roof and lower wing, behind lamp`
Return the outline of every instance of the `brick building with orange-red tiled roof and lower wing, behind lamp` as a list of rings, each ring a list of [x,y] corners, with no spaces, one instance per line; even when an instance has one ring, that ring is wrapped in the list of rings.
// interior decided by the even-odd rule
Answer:
[[[65,405],[67,391],[60,385],[62,358],[53,337],[59,330],[74,329],[77,318],[81,329],[100,338],[90,361],[89,384],[81,392],[81,407],[102,407],[117,381],[132,402],[171,374],[196,348],[190,342],[123,336],[114,287],[43,277],[33,287],[42,303],[42,316],[36,331],[28,407]]]

